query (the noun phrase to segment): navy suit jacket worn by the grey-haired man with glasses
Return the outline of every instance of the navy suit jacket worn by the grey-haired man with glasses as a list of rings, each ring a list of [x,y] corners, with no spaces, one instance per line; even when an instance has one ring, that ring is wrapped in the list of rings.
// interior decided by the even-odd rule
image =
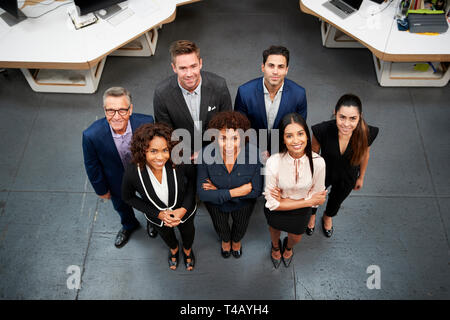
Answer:
[[[139,113],[130,116],[133,132],[145,123],[153,123],[153,117]],[[104,195],[110,191],[112,196],[121,198],[125,168],[106,118],[95,121],[83,131],[83,156],[86,173],[95,193]]]

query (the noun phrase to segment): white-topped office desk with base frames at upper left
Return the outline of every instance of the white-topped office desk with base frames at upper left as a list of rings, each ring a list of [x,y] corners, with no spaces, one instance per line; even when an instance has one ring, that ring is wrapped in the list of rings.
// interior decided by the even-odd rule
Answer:
[[[108,55],[154,54],[158,27],[175,19],[177,6],[196,1],[199,0],[129,0],[128,13],[133,13],[129,18],[117,25],[99,19],[79,30],[67,14],[73,4],[38,19],[28,18],[13,27],[2,20],[0,67],[21,68],[35,91],[95,92]],[[23,11],[33,15],[33,11],[39,13],[42,7]],[[136,40],[143,53],[127,47]],[[37,72],[43,77],[39,78]]]

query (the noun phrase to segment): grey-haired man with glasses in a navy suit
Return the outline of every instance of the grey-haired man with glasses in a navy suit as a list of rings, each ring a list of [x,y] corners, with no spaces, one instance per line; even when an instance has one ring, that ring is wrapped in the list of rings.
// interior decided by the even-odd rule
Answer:
[[[84,166],[95,193],[102,199],[110,199],[120,215],[122,228],[115,246],[121,248],[140,226],[133,209],[121,199],[124,168],[131,161],[131,138],[142,124],[153,123],[153,117],[133,114],[131,95],[121,87],[105,91],[103,108],[105,117],[83,131]],[[157,234],[149,230],[149,235]]]

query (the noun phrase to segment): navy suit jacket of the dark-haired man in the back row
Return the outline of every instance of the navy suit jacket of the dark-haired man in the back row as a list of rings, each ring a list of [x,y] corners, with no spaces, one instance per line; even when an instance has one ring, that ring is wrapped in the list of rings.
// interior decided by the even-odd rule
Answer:
[[[253,129],[267,129],[262,77],[251,80],[239,87],[234,102],[234,110],[245,114],[250,120]],[[299,113],[306,120],[305,89],[294,81],[284,79],[280,108],[273,123],[273,128],[278,129],[281,119],[291,112]]]

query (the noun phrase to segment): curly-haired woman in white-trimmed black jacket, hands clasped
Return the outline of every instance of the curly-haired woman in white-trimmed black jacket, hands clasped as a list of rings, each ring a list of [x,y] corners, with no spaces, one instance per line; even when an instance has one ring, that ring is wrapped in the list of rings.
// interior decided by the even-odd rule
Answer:
[[[172,270],[178,266],[179,246],[174,230],[178,227],[184,263],[190,271],[195,264],[195,175],[183,165],[173,165],[171,135],[172,129],[163,123],[145,124],[136,130],[131,141],[133,164],[123,176],[122,199],[155,225],[169,246]]]

